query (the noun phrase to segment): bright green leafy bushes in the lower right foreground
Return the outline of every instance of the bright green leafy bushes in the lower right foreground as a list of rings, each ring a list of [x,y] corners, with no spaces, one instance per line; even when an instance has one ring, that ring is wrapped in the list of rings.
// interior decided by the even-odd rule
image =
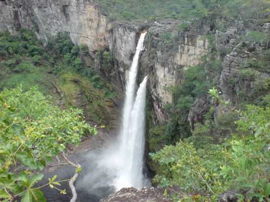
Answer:
[[[249,201],[253,197],[266,201],[270,196],[270,108],[247,105],[241,116],[238,134],[222,145],[209,144],[208,138],[190,137],[151,153],[158,163],[154,182],[208,193],[213,201],[225,190],[235,188],[245,190]],[[200,147],[196,149],[190,139],[199,140]]]

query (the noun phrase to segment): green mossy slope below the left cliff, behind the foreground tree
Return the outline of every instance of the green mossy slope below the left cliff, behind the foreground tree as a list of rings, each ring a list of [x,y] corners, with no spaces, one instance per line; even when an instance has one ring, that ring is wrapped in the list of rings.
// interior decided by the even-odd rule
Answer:
[[[43,46],[32,31],[21,29],[17,35],[0,32],[0,50],[0,90],[37,86],[54,103],[81,108],[92,123],[110,128],[105,103],[115,94],[92,67],[83,65],[80,52],[88,54],[87,46],[74,45],[67,33],[59,33]]]

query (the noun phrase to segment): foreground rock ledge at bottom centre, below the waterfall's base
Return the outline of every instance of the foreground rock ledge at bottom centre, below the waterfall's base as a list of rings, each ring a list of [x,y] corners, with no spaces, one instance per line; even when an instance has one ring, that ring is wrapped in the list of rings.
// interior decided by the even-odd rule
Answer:
[[[163,193],[162,188],[123,188],[108,198],[102,199],[101,202],[171,202],[172,200],[164,197]]]

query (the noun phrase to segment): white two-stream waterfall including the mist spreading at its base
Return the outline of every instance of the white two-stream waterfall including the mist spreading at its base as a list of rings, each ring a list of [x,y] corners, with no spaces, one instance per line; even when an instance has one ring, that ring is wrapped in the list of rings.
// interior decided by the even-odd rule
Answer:
[[[141,33],[132,66],[127,74],[126,97],[122,114],[122,127],[117,142],[111,142],[101,154],[94,154],[97,168],[89,171],[81,182],[81,187],[91,184],[92,192],[104,186],[113,186],[116,191],[124,187],[142,188],[150,185],[144,176],[144,132],[145,97],[147,76],[136,92],[137,66],[146,32]],[[136,93],[136,97],[135,97]]]

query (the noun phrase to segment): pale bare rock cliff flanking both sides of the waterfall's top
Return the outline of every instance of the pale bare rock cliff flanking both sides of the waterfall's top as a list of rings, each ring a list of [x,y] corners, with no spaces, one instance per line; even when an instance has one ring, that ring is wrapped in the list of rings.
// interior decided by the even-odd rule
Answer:
[[[141,74],[150,75],[150,94],[156,114],[155,122],[165,122],[165,103],[172,101],[169,87],[182,82],[180,70],[199,63],[208,49],[208,41],[197,30],[176,32],[179,21],[155,22],[151,25],[112,23],[102,14],[93,0],[0,0],[0,30],[16,32],[21,27],[36,31],[40,39],[49,40],[58,32],[69,32],[75,44],[86,44],[89,54],[84,55],[88,66],[111,82],[118,92],[125,86],[125,71],[132,62],[139,32],[148,29],[145,51],[140,64]],[[200,28],[200,30],[202,30]],[[168,44],[160,33],[173,33]],[[99,50],[109,50],[116,63],[102,69],[95,60]]]

